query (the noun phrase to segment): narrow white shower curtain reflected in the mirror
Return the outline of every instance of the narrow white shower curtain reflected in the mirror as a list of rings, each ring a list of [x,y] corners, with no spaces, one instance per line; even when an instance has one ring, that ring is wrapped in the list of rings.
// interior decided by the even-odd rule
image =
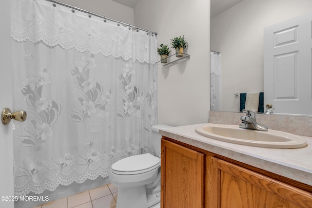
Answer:
[[[210,110],[221,111],[221,54],[210,52]]]

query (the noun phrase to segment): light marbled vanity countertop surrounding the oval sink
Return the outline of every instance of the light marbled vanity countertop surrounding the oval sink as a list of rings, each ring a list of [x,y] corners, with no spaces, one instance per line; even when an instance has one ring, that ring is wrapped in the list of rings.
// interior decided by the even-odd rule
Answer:
[[[203,124],[159,130],[161,135],[312,186],[312,137],[298,149],[260,148],[207,138],[195,132]]]

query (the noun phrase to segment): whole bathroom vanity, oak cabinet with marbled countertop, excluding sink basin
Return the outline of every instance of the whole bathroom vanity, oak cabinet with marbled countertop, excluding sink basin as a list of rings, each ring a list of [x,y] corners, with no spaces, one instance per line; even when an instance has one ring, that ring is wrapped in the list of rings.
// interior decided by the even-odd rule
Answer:
[[[198,125],[160,130],[161,208],[312,208],[312,138],[298,149],[207,138]]]

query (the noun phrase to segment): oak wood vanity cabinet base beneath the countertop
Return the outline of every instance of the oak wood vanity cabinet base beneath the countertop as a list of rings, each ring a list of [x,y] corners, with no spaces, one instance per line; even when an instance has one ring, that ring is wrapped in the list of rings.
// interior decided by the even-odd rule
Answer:
[[[311,191],[172,141],[161,141],[161,208],[312,208]]]

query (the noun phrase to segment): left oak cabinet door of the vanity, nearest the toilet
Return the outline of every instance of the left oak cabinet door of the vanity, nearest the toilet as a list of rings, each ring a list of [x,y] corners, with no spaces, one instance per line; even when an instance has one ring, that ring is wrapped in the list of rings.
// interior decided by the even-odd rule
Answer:
[[[161,208],[203,208],[204,155],[161,140]]]

